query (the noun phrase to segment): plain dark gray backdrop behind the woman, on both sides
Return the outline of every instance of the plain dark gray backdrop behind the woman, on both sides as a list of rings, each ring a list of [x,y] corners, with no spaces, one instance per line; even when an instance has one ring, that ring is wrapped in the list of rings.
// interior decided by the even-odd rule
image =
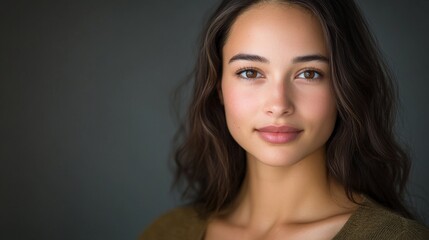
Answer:
[[[399,81],[410,191],[428,223],[429,1],[358,2]],[[215,5],[1,1],[0,239],[135,239],[180,203],[169,94]]]

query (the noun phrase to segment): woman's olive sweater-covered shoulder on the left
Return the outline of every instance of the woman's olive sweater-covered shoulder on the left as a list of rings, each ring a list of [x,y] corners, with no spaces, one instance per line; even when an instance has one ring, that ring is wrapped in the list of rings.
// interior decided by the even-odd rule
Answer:
[[[201,239],[206,221],[193,207],[174,208],[156,219],[140,236],[140,240]]]

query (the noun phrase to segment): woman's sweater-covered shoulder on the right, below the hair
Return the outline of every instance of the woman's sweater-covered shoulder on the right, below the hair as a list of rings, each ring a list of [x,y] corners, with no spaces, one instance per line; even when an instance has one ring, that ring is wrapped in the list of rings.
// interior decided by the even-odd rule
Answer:
[[[373,200],[366,200],[335,239],[429,239],[429,229],[400,216]]]

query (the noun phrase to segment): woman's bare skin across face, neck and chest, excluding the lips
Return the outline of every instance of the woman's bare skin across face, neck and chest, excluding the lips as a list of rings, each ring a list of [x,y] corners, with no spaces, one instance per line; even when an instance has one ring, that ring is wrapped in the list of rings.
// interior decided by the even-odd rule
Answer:
[[[332,239],[357,205],[326,171],[337,110],[317,18],[284,3],[242,13],[223,48],[219,95],[248,165],[238,198],[209,221],[205,239]],[[267,141],[259,131],[267,126],[299,133]]]

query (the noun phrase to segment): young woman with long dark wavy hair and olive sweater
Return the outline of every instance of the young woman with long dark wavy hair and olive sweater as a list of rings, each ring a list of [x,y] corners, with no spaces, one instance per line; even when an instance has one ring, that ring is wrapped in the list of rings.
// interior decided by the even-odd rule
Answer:
[[[191,204],[141,239],[429,239],[394,97],[352,0],[223,1],[175,154]]]

